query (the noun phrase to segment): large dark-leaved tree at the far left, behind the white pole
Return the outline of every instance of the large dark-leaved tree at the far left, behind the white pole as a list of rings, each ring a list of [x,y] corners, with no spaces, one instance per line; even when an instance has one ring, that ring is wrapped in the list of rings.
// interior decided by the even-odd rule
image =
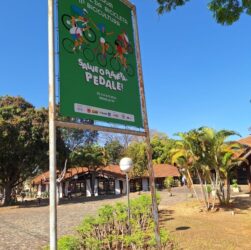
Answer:
[[[0,142],[0,186],[9,205],[13,188],[48,167],[47,110],[35,109],[22,97],[0,97]]]

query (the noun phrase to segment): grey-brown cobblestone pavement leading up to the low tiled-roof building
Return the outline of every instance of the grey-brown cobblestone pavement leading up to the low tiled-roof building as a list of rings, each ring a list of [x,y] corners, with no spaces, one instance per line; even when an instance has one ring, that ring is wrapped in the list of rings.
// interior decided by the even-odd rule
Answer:
[[[160,206],[171,206],[186,201],[188,190],[186,187],[173,188],[173,196],[166,191],[160,192]],[[130,194],[136,197],[137,194]],[[113,204],[125,201],[126,196],[79,198],[66,201],[58,206],[58,235],[71,234],[74,227],[80,224],[86,215],[94,215],[103,204]],[[0,250],[41,249],[49,242],[49,206],[28,204],[27,207],[0,208]]]

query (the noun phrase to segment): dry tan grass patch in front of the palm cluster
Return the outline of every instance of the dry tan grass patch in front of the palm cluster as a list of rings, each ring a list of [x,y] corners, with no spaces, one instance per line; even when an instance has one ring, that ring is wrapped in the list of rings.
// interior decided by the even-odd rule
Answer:
[[[179,203],[160,211],[160,223],[178,249],[251,250],[251,198],[236,198],[217,212],[201,212],[197,202]]]

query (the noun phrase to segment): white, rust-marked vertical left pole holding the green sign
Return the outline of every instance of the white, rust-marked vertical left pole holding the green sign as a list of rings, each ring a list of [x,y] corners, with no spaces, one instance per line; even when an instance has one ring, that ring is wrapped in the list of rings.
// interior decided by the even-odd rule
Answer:
[[[54,62],[54,0],[48,0],[48,48],[49,48],[49,159],[50,159],[50,249],[57,249],[56,203],[56,109]]]

